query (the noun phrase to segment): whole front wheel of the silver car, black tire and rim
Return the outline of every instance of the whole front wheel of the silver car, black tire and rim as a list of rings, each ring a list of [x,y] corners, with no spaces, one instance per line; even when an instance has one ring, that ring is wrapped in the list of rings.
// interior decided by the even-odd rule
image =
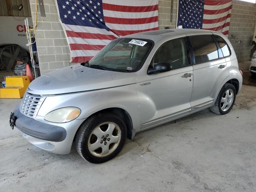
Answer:
[[[76,150],[91,163],[103,163],[122,150],[126,137],[126,125],[118,115],[96,114],[80,126],[75,138]]]

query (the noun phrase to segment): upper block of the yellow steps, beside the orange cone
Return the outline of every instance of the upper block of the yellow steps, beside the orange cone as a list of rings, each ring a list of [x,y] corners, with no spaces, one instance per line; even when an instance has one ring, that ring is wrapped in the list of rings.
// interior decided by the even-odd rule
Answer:
[[[10,76],[5,78],[6,87],[28,87],[30,80],[28,76]]]

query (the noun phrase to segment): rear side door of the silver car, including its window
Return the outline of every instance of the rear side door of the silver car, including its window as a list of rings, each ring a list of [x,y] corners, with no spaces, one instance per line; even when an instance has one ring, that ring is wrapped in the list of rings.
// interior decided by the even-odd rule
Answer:
[[[189,36],[192,47],[192,111],[212,105],[219,85],[228,77],[226,60],[212,34]]]

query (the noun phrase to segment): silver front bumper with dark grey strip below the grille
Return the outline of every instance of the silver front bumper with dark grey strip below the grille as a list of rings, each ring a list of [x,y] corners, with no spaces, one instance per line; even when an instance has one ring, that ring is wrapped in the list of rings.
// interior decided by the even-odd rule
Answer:
[[[46,122],[44,117],[29,118],[14,110],[15,127],[22,136],[33,145],[56,154],[69,154],[76,131],[85,119],[76,119],[67,123]]]

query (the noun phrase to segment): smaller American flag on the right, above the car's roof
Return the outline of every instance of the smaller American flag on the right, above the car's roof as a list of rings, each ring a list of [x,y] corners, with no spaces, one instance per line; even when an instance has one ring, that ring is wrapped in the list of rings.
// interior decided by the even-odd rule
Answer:
[[[228,35],[231,0],[179,0],[177,25]]]

